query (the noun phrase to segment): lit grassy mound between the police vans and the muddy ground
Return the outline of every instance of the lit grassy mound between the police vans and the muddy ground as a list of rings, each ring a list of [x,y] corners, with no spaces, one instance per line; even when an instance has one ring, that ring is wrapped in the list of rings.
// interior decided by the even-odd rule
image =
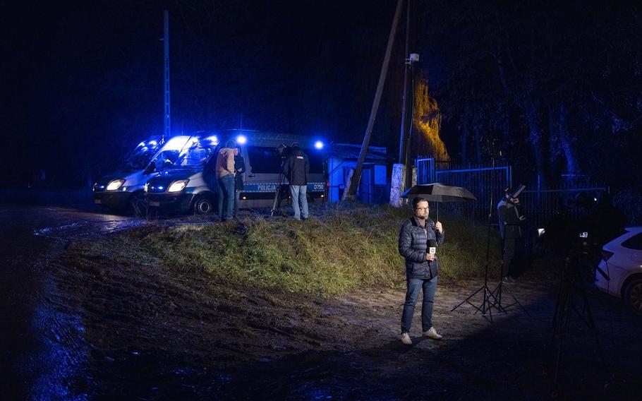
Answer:
[[[323,296],[403,282],[397,234],[411,215],[409,208],[330,205],[315,214],[320,217],[307,222],[252,216],[209,225],[145,225],[107,240],[75,244],[68,257],[77,263],[152,264],[239,285]],[[438,250],[440,275],[482,275],[485,225],[447,215],[441,220],[447,241]],[[492,232],[491,260],[500,258],[498,241]]]

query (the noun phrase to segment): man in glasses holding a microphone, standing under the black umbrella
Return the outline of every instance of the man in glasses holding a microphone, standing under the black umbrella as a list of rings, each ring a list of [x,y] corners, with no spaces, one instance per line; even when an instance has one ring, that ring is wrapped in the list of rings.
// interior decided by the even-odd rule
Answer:
[[[399,253],[406,259],[406,302],[401,313],[401,342],[412,345],[410,326],[419,293],[423,290],[421,304],[421,331],[426,337],[440,340],[442,335],[432,326],[432,306],[435,303],[439,263],[435,250],[444,243],[441,222],[433,222],[428,214],[430,207],[425,198],[414,198],[413,217],[399,229]]]

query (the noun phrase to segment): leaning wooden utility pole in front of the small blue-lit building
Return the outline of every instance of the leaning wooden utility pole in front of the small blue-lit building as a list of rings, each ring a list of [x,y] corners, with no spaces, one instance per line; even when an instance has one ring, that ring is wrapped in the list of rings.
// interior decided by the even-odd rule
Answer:
[[[361,180],[361,171],[363,170],[363,162],[365,161],[365,155],[368,153],[368,145],[370,144],[370,135],[373,133],[373,126],[375,125],[375,118],[377,116],[377,110],[379,109],[379,103],[381,100],[381,94],[383,92],[383,85],[386,81],[386,74],[388,72],[388,65],[390,61],[390,54],[392,53],[392,44],[394,43],[394,35],[396,34],[396,27],[399,25],[399,16],[401,16],[401,6],[404,4],[404,0],[397,0],[396,10],[394,11],[394,19],[392,20],[392,28],[390,28],[390,35],[388,37],[388,45],[386,47],[386,55],[383,59],[383,65],[381,67],[381,73],[379,74],[379,83],[377,83],[377,92],[375,92],[375,100],[373,100],[373,108],[370,110],[370,119],[368,119],[368,126],[365,128],[365,135],[363,136],[363,144],[361,145],[361,152],[359,152],[359,159],[357,160],[357,166],[354,169],[351,179],[346,183],[346,189],[344,191],[343,200],[354,200],[357,188],[359,186],[359,181]]]

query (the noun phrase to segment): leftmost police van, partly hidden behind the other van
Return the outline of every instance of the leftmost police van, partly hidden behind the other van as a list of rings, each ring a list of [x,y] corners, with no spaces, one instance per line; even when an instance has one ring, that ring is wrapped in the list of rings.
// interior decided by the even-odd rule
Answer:
[[[174,164],[190,136],[174,136],[164,143],[152,137],[139,143],[116,172],[102,176],[92,190],[94,203],[116,211],[138,212],[145,207],[143,188],[148,179]]]

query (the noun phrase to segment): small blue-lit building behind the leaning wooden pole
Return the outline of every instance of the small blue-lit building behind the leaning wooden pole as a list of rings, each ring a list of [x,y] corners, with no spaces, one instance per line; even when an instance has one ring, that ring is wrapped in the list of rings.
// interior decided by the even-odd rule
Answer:
[[[356,168],[361,145],[333,143],[327,150],[328,201],[339,202],[350,171]],[[363,163],[357,199],[364,203],[387,203],[389,198],[388,164],[392,160],[386,148],[370,146]]]

